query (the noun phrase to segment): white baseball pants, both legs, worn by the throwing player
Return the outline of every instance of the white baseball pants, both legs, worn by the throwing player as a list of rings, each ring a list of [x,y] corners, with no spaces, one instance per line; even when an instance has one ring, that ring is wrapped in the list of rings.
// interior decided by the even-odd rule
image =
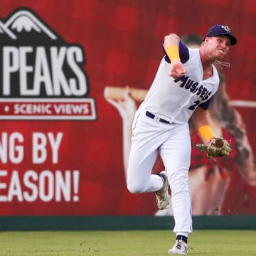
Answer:
[[[191,137],[188,124],[161,123],[158,119],[146,117],[146,110],[139,109],[132,124],[127,171],[127,188],[131,193],[161,189],[161,177],[151,174],[158,153],[164,162],[171,187],[174,233],[191,233],[191,193],[188,188]]]

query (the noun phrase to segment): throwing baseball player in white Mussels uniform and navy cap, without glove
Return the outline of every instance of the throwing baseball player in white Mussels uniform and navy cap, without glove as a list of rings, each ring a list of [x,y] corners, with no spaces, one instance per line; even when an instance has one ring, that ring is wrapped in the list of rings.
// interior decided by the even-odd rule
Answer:
[[[236,43],[225,25],[211,27],[199,49],[187,48],[174,33],[165,36],[164,58],[134,117],[127,188],[131,193],[154,192],[157,206],[164,209],[169,204],[170,186],[176,233],[170,255],[187,254],[188,235],[192,233],[188,119],[194,119],[205,142],[216,137],[207,115],[219,84],[215,65],[222,63],[220,60]],[[158,154],[165,171],[151,174]]]

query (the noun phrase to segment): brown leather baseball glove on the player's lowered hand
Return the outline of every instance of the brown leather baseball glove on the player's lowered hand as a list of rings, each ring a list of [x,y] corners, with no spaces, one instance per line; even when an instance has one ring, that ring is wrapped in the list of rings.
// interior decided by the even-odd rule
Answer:
[[[217,156],[229,156],[231,153],[231,146],[223,137],[213,137],[207,144],[196,144],[196,147],[201,152],[206,152],[211,159]]]

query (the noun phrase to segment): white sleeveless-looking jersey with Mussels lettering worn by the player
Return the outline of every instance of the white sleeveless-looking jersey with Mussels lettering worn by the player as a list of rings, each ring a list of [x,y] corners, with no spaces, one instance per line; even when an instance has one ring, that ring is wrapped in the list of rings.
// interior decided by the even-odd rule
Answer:
[[[141,107],[171,123],[183,124],[198,105],[206,102],[218,89],[218,71],[213,65],[213,76],[203,80],[203,66],[199,49],[188,48],[189,58],[183,63],[186,75],[174,80],[169,76],[171,64],[161,60],[148,94]]]

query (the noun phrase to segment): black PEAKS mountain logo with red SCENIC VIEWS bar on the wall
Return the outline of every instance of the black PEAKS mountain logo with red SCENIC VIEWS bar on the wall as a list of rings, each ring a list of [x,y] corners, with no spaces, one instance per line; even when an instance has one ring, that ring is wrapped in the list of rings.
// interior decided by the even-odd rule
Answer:
[[[31,9],[0,20],[0,119],[96,119],[85,50]]]

